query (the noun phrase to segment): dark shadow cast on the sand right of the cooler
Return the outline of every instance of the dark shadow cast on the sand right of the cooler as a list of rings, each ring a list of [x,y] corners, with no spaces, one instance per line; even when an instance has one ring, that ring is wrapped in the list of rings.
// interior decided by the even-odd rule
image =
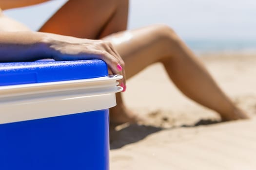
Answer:
[[[211,119],[201,119],[197,121],[194,125],[181,125],[181,126],[174,126],[169,129],[176,129],[180,127],[196,127],[200,125],[210,125],[215,123],[220,123],[221,121],[211,120]],[[150,134],[159,132],[161,130],[166,130],[166,128],[149,126],[149,125],[138,125],[138,124],[131,124],[127,125],[126,127],[115,130],[114,125],[110,126],[110,149],[118,149],[127,144],[138,142]]]

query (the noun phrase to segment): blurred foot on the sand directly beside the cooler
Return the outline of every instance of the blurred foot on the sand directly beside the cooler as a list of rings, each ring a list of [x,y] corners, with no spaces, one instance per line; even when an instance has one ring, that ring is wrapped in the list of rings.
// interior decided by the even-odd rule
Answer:
[[[110,108],[109,119],[111,124],[136,123],[141,120],[123,104]]]

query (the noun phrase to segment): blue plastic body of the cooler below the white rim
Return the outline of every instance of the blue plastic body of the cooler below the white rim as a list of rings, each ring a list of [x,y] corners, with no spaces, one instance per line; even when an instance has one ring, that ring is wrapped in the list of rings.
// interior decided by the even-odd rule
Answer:
[[[109,170],[108,109],[0,124],[0,136],[0,170]]]

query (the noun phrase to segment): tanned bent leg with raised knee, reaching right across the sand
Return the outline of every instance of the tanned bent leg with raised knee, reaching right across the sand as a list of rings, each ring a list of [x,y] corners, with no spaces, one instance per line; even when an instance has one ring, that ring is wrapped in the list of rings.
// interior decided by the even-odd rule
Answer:
[[[198,58],[169,27],[155,25],[113,34],[105,39],[111,41],[122,56],[127,79],[143,68],[161,62],[187,97],[217,111],[223,120],[248,118],[221,91]],[[119,112],[119,122],[133,121],[134,117],[125,115],[125,107],[122,105],[121,108],[124,112]]]

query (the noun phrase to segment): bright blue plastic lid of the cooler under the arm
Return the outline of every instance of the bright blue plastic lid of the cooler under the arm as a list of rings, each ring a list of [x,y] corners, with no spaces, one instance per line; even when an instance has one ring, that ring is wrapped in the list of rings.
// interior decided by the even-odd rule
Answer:
[[[102,60],[0,63],[0,85],[57,82],[107,75],[107,65]]]

